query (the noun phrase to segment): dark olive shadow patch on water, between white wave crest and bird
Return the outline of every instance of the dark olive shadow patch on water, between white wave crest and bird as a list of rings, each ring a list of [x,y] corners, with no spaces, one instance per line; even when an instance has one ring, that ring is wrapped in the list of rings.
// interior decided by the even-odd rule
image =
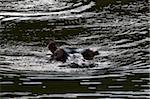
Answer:
[[[77,19],[76,21],[78,22]],[[66,21],[66,23],[64,22]],[[73,20],[69,20],[71,22]],[[74,20],[75,21],[75,20]],[[64,22],[64,23],[63,23]],[[11,24],[13,23],[13,24]],[[48,21],[21,21],[21,22],[11,22],[6,23],[4,26],[8,26],[6,30],[3,31],[1,36],[2,41],[7,42],[8,40],[24,41],[24,42],[35,42],[35,41],[48,41],[50,38],[55,39],[67,39],[73,35],[78,35],[85,29],[82,27],[67,29],[61,28],[61,26],[68,25],[67,20],[54,20]],[[80,23],[74,23],[74,25]]]

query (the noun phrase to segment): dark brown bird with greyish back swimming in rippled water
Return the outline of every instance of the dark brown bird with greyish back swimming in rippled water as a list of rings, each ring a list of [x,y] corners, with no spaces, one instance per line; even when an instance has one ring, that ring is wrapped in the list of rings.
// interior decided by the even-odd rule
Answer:
[[[52,52],[52,59],[61,62],[66,62],[69,54],[74,53],[80,53],[85,60],[93,60],[94,56],[99,55],[98,51],[93,51],[91,49],[58,48],[54,40],[49,41],[48,49]]]

